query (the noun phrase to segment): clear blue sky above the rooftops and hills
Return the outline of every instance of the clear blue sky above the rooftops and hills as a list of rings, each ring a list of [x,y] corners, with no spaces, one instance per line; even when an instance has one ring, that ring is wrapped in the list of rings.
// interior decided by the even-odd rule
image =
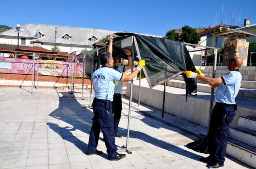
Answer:
[[[223,6],[223,10],[222,10]],[[165,35],[168,30],[256,23],[256,0],[2,0],[0,25],[39,23]],[[240,18],[240,21],[239,21]]]

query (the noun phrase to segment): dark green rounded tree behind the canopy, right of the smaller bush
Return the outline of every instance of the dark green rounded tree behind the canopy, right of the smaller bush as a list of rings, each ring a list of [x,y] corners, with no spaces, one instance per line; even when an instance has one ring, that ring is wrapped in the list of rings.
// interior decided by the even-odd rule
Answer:
[[[191,28],[188,25],[183,26],[182,28],[182,34],[180,35],[180,41],[181,42],[187,42],[192,44],[198,44],[200,41],[200,36],[195,31],[194,28]]]

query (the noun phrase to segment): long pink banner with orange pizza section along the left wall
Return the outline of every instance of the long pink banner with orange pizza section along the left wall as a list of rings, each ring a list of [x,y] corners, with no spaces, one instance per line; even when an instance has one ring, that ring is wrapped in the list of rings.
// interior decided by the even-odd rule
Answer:
[[[32,75],[33,60],[0,57],[0,73]],[[35,72],[45,76],[73,76],[82,77],[83,65],[79,62],[61,62],[55,60],[35,60]],[[84,77],[87,77],[84,74]]]

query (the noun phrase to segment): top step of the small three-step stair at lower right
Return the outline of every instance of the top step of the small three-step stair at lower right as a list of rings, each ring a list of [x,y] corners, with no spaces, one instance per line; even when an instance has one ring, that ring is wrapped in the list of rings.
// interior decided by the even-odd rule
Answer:
[[[256,131],[256,118],[252,116],[240,116],[238,126],[252,131]]]

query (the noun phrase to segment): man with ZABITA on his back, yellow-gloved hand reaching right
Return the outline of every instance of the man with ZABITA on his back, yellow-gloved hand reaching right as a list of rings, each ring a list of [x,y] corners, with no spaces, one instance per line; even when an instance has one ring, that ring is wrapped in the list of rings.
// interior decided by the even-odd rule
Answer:
[[[109,36],[109,46],[112,47],[113,34]],[[115,88],[115,81],[131,81],[140,70],[145,66],[145,60],[141,60],[137,68],[129,75],[122,74],[114,69],[113,58],[110,52],[104,52],[100,56],[102,67],[93,73],[94,96],[93,99],[93,124],[90,130],[87,155],[100,155],[101,151],[97,150],[99,141],[99,132],[102,130],[107,147],[109,160],[120,160],[125,154],[116,152],[115,132],[113,123],[112,101]]]

